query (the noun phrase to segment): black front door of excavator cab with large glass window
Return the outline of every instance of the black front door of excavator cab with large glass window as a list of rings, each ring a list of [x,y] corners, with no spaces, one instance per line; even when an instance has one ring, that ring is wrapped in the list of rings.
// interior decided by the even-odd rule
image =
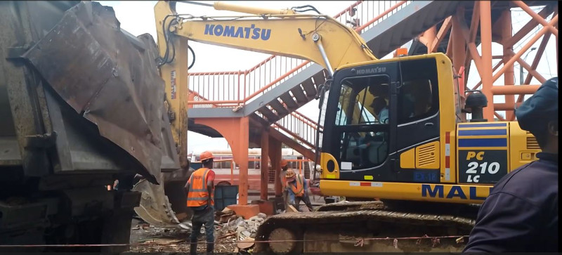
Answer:
[[[377,63],[339,70],[329,92],[322,152],[339,164],[339,179],[396,181],[396,118],[391,116],[391,84],[399,81],[398,64]],[[378,103],[375,103],[377,101]],[[388,119],[384,120],[384,108]]]

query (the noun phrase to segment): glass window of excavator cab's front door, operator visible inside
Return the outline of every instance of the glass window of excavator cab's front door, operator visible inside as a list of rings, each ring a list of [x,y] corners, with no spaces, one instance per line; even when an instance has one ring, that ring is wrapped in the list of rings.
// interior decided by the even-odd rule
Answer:
[[[341,170],[368,169],[388,156],[387,75],[344,79],[336,112]]]

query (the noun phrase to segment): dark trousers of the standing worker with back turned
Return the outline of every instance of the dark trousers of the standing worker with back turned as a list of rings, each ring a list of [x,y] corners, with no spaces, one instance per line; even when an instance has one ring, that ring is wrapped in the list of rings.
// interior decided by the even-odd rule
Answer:
[[[197,235],[201,232],[201,227],[205,225],[205,235],[207,235],[207,253],[212,253],[214,250],[214,209],[213,207],[207,207],[200,211],[193,210],[193,216],[191,217],[191,235],[190,235],[190,253],[197,254]]]

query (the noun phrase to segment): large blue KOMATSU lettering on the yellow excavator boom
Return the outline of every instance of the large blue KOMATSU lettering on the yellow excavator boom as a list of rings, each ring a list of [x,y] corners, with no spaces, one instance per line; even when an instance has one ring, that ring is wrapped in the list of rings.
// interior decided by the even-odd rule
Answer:
[[[214,35],[217,37],[237,37],[242,39],[261,39],[263,41],[269,40],[271,30],[256,27],[252,24],[250,27],[237,27],[237,26],[223,26],[223,25],[205,25],[205,34]]]

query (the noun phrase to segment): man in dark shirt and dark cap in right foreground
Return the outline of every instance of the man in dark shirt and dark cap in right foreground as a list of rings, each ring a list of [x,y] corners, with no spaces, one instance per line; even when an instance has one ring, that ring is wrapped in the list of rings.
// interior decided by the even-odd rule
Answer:
[[[544,82],[515,114],[542,152],[496,183],[463,252],[559,251],[558,78]]]

